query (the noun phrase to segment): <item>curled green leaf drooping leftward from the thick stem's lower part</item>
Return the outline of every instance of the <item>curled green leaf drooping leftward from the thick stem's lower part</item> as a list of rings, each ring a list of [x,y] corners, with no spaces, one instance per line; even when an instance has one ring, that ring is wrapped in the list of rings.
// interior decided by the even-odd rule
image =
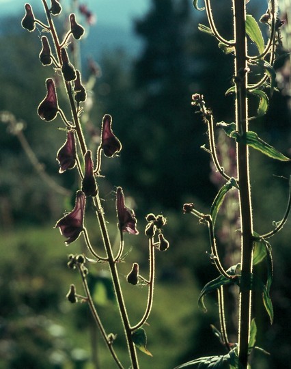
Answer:
[[[227,284],[240,284],[240,275],[238,275],[238,271],[240,271],[240,264],[233,265],[229,269],[227,269],[226,273],[229,275],[237,275],[237,277],[234,277],[233,279],[229,279],[225,277],[224,275],[219,275],[216,279],[213,279],[212,281],[208,282],[200,292],[199,298],[198,298],[198,306],[204,312],[207,312],[206,305],[204,304],[204,296],[207,295],[210,292],[213,292],[217,290],[221,286],[226,286]]]

